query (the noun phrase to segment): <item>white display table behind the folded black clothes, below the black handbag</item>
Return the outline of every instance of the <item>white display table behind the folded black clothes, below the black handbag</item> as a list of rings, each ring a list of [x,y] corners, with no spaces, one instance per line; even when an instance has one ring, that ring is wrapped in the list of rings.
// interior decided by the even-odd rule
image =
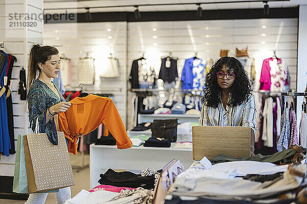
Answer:
[[[174,143],[172,143],[174,144]],[[90,188],[99,185],[100,173],[108,168],[122,170],[162,169],[172,159],[180,159],[184,168],[193,162],[192,149],[172,147],[132,147],[90,145]]]

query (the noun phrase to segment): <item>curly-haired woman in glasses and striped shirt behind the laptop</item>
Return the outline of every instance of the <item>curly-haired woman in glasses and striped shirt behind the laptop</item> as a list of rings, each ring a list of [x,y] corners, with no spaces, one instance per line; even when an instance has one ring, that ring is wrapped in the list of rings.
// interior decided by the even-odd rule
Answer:
[[[253,156],[257,106],[251,85],[244,66],[237,59],[217,60],[206,75],[199,121],[202,126],[251,127],[250,155]]]

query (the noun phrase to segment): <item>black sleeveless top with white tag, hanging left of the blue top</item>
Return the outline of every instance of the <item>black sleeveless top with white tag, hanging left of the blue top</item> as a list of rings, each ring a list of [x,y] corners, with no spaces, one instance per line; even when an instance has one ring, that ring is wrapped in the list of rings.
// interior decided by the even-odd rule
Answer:
[[[170,63],[169,67],[166,66],[166,62]],[[162,58],[158,79],[171,83],[176,81],[176,78],[178,78],[177,59]]]

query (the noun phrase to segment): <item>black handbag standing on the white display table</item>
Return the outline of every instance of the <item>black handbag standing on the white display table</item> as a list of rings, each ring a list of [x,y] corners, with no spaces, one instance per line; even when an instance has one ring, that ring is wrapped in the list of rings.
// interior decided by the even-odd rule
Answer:
[[[177,140],[178,119],[153,120],[151,124],[151,136],[169,139],[171,142]]]

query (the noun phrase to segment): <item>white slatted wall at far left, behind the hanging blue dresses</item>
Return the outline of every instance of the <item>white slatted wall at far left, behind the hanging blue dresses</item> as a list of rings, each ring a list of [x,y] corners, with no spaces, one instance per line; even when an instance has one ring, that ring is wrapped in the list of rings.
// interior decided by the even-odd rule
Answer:
[[[4,41],[4,52],[17,58],[12,71],[11,90],[13,101],[14,139],[15,148],[17,136],[28,132],[29,119],[26,100],[20,100],[17,94],[19,83],[19,71],[22,67],[28,67],[29,48],[33,43],[42,44],[43,22],[35,21],[36,27],[8,27],[9,14],[12,13],[42,13],[42,0],[0,0],[0,41]],[[14,175],[15,155],[1,156],[0,176]]]

